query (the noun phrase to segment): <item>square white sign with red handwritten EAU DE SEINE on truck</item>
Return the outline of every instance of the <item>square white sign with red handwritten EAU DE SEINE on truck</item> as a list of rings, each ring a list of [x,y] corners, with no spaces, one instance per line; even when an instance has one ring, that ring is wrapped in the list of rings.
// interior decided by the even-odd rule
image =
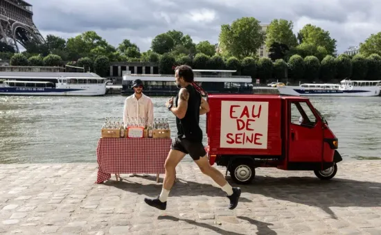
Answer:
[[[267,148],[269,103],[221,102],[220,148]]]

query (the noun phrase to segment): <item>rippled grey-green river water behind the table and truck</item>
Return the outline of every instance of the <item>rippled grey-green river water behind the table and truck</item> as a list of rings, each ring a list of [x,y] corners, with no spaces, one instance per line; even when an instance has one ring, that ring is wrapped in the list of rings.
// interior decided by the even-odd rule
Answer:
[[[125,98],[0,96],[0,163],[96,162],[100,128],[105,117],[122,118]],[[154,115],[169,119],[175,137],[167,99],[152,97]],[[310,100],[339,139],[344,161],[381,159],[381,97]],[[205,131],[205,115],[200,125]]]

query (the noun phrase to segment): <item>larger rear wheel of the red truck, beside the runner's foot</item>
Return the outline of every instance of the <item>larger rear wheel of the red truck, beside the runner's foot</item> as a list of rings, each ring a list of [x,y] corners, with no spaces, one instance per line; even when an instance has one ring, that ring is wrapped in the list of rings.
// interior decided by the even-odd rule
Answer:
[[[234,163],[230,168],[231,179],[237,184],[250,184],[256,176],[256,170],[248,162]]]

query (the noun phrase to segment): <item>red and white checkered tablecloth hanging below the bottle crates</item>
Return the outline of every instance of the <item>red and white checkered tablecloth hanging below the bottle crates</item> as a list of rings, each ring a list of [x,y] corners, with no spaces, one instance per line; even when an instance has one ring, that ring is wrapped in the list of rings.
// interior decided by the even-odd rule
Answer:
[[[96,148],[96,183],[109,180],[115,173],[165,173],[171,144],[172,139],[100,138]]]

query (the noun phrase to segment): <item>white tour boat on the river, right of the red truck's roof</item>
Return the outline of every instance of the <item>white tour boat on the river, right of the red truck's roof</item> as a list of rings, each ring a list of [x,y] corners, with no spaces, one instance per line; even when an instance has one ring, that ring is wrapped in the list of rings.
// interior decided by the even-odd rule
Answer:
[[[277,87],[289,96],[380,96],[381,80],[342,80],[333,83],[303,83],[299,86]]]

